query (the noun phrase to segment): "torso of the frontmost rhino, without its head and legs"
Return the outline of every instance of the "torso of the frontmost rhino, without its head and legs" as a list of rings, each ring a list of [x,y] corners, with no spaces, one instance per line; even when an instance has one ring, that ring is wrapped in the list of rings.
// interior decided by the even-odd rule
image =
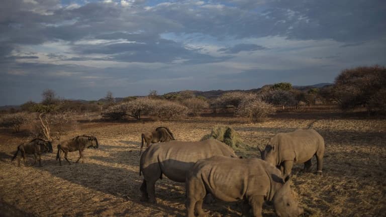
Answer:
[[[282,178],[280,170],[261,159],[224,156],[198,161],[188,172],[189,177],[202,179],[207,191],[224,201],[237,201],[252,195],[271,200],[281,186],[278,179]]]

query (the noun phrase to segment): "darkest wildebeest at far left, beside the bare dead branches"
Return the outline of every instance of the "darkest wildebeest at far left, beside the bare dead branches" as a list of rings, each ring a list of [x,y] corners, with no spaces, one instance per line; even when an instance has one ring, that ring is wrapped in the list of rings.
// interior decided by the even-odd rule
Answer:
[[[46,152],[52,153],[52,142],[36,138],[31,140],[28,143],[22,143],[18,146],[18,150],[16,151],[11,162],[15,160],[19,152],[23,157],[24,163],[26,162],[26,154],[34,154],[34,157],[35,157],[34,165],[36,164],[36,161],[38,160],[38,157],[39,157],[39,166],[42,166],[41,155]],[[20,157],[18,158],[18,166],[20,166]]]

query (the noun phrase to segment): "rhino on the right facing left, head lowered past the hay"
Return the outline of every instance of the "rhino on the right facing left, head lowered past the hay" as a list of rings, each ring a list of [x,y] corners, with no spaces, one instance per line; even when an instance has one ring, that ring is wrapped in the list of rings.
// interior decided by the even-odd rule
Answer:
[[[259,148],[259,147],[258,147]],[[324,140],[313,129],[298,129],[291,133],[276,134],[262,151],[261,159],[279,166],[284,176],[291,174],[294,164],[304,163],[304,170],[310,171],[311,159],[316,155],[317,173],[322,174]]]

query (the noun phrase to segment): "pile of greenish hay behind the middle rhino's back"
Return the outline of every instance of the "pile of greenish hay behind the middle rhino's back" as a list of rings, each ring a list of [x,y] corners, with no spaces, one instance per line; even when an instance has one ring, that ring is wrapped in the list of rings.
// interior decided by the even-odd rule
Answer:
[[[235,151],[240,150],[244,146],[244,141],[240,138],[240,135],[228,126],[214,127],[212,132],[205,135],[201,140],[206,139],[217,139],[229,145]]]

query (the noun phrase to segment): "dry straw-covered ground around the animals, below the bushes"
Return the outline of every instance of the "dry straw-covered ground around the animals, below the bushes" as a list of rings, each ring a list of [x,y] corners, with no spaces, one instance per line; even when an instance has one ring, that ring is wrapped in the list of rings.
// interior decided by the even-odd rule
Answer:
[[[315,120],[317,120],[315,122]],[[313,124],[312,124],[313,123]],[[246,143],[244,157],[259,157],[256,145],[265,146],[278,132],[312,124],[325,139],[323,176],[294,168],[293,193],[306,208],[304,216],[386,216],[386,120],[341,118],[337,115],[278,114],[263,123],[234,118],[199,118],[178,122],[82,123],[62,139],[94,134],[99,149],[85,150],[83,163],[68,165],[43,157],[43,167],[17,161],[16,147],[26,134],[0,133],[0,216],[184,216],[184,185],[167,178],[156,183],[159,203],[140,202],[140,133],[166,126],[177,140],[196,141],[215,125],[234,128]],[[72,162],[77,152],[69,154]],[[315,159],[313,171],[316,170]],[[238,216],[237,203],[204,205],[209,216]],[[264,205],[263,216],[276,216]]]

